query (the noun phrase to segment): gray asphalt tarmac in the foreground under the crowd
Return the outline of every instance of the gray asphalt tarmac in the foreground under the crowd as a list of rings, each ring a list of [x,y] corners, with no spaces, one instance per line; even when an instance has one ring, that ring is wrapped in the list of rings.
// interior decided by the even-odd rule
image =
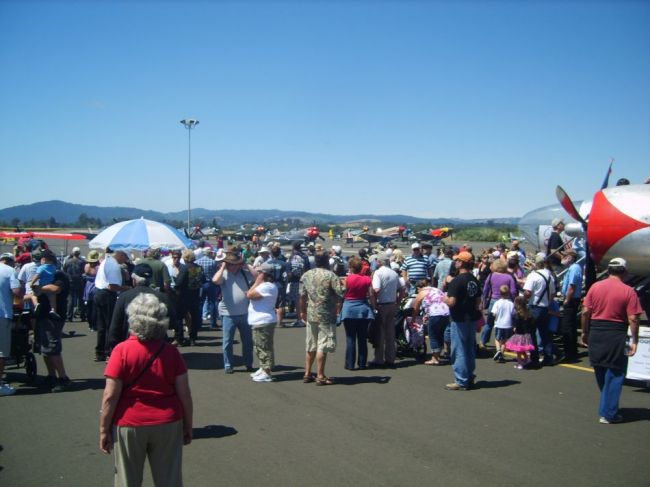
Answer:
[[[39,389],[7,368],[18,392],[0,398],[1,485],[112,485],[113,459],[98,448],[104,364],[92,361],[85,323],[65,331],[75,332],[63,342],[70,391]],[[338,340],[326,368],[335,385],[302,383],[304,328],[276,329],[276,380],[254,383],[241,361],[224,374],[221,332],[204,327],[197,346],[181,349],[195,411],[185,485],[650,485],[650,390],[626,385],[625,422],[599,424],[585,359],[519,371],[486,357],[476,389],[452,392],[449,366],[413,358],[347,371],[342,327]],[[40,357],[38,368],[42,378]]]

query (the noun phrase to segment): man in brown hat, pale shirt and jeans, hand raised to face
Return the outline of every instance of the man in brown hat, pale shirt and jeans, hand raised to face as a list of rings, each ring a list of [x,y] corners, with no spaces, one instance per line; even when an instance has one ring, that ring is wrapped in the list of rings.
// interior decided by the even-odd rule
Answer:
[[[221,286],[222,300],[219,315],[223,328],[223,365],[226,374],[234,373],[233,341],[239,330],[242,358],[246,370],[253,371],[253,335],[248,324],[249,299],[246,293],[254,281],[254,271],[244,264],[244,259],[236,247],[230,247],[226,256],[212,278]]]

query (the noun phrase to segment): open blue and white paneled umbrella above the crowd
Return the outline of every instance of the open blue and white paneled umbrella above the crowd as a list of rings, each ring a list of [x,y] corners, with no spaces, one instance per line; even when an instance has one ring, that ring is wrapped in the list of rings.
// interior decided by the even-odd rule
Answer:
[[[166,223],[139,218],[111,225],[89,243],[91,249],[145,250],[149,247],[179,249],[192,247],[192,241]]]

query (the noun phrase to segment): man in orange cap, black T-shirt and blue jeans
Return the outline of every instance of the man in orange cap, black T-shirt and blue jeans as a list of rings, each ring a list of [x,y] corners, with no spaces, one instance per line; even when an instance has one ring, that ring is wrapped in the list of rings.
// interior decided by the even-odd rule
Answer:
[[[451,364],[455,381],[447,384],[450,391],[468,390],[474,386],[476,368],[476,322],[481,317],[481,290],[472,274],[474,256],[459,252],[454,257],[458,275],[447,286],[445,303],[451,315]]]

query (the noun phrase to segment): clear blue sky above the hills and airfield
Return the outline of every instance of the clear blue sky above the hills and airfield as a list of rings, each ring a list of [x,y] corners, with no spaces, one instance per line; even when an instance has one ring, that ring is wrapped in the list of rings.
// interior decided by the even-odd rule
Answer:
[[[612,156],[650,177],[650,2],[5,0],[0,69],[0,207],[184,210],[186,117],[192,207],[518,216]]]

